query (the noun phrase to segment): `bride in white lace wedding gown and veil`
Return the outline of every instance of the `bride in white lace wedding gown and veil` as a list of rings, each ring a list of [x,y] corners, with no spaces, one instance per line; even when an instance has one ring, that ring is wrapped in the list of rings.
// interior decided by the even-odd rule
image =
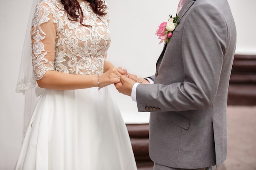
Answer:
[[[16,87],[26,95],[26,131],[15,170],[136,170],[126,126],[106,87],[126,74],[107,60],[107,3],[34,4]]]

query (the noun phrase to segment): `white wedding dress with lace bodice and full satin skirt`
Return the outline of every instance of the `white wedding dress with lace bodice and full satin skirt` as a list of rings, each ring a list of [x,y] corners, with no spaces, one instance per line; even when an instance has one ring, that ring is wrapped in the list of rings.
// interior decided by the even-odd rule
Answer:
[[[110,45],[109,15],[81,3],[84,24],[59,0],[43,0],[32,22],[36,79],[48,70],[101,75]],[[54,45],[53,45],[54,44]],[[54,48],[55,46],[55,48]],[[86,76],[85,76],[86,77]],[[130,138],[108,89],[45,90],[34,109],[15,170],[136,170]]]

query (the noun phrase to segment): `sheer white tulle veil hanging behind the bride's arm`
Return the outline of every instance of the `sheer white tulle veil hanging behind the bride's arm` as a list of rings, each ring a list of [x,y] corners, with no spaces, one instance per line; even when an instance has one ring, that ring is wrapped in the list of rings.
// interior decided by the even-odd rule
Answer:
[[[20,72],[18,76],[18,82],[16,85],[16,92],[25,95],[25,108],[24,108],[24,118],[23,118],[23,132],[27,130],[27,126],[31,119],[34,107],[40,97],[40,95],[45,91],[43,88],[39,88],[36,79],[34,77],[32,68],[32,57],[31,57],[31,22],[34,17],[34,12],[36,9],[36,4],[42,0],[33,0],[31,11],[29,15],[29,21],[27,24],[27,31],[25,35],[25,40],[23,44],[23,50],[20,62]]]

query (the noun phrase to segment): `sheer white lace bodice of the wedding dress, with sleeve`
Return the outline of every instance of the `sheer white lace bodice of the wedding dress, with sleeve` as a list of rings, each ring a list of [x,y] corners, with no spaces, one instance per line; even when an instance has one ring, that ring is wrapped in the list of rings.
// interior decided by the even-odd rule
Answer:
[[[106,2],[105,2],[106,3]],[[100,75],[110,46],[109,15],[97,17],[82,2],[83,24],[70,21],[59,0],[43,0],[32,20],[32,64],[36,79],[46,71]]]

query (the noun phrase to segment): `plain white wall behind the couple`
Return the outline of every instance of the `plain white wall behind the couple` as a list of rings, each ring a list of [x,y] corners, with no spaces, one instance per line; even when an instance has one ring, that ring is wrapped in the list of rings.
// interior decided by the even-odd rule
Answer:
[[[178,1],[108,0],[112,33],[109,60],[140,77],[153,75],[162,50],[155,31],[169,14],[176,13]],[[31,3],[32,0],[4,0],[0,5],[0,170],[13,169],[21,146],[24,100],[15,92],[15,86]],[[236,53],[255,55],[256,1],[229,3],[238,33]],[[127,123],[148,122],[148,113],[138,113],[130,97],[119,94],[114,86],[110,86],[110,91]]]

